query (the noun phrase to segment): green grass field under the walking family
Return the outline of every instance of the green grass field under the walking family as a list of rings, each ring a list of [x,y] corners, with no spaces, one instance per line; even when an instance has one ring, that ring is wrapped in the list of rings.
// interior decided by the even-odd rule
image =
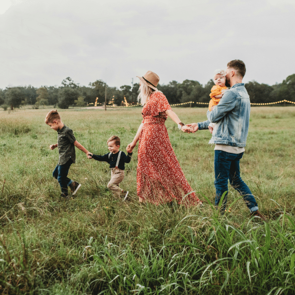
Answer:
[[[174,110],[185,123],[206,119],[205,108]],[[266,223],[250,220],[232,188],[231,211],[213,210],[210,133],[184,134],[170,118],[170,141],[204,207],[139,205],[137,148],[122,182],[132,202],[115,200],[107,163],[78,149],[69,177],[82,187],[75,199],[61,200],[48,111],[0,111],[1,294],[295,294],[295,107],[251,109],[241,175]],[[111,135],[125,151],[142,120],[140,108],[60,115],[96,154],[108,151]]]

